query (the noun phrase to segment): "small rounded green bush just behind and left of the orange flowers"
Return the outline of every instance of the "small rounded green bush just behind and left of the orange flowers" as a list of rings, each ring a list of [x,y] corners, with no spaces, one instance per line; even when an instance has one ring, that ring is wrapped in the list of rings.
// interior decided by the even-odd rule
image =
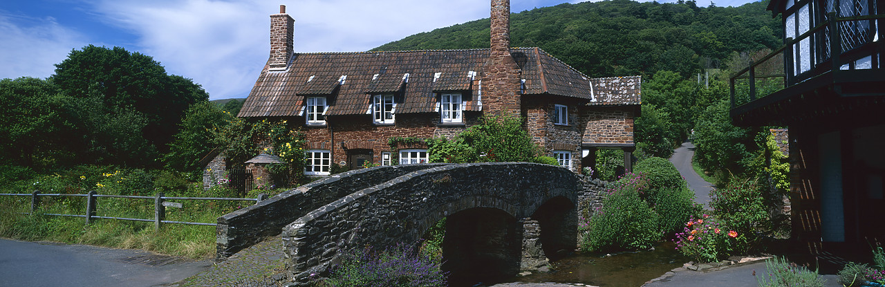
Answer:
[[[696,216],[703,209],[694,202],[695,192],[682,186],[675,189],[658,190],[653,193],[655,198],[652,208],[658,213],[658,229],[664,234],[679,230],[691,216]]]

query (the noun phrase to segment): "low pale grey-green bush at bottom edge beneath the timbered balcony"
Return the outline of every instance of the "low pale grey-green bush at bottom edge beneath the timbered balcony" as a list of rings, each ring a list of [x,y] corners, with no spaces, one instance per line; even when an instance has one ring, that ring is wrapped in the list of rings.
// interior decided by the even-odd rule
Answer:
[[[810,271],[808,268],[797,266],[796,263],[790,263],[786,259],[774,257],[766,260],[766,276],[757,276],[756,281],[762,287],[787,287],[787,286],[803,286],[803,287],[823,287],[824,281],[818,276],[817,271]]]

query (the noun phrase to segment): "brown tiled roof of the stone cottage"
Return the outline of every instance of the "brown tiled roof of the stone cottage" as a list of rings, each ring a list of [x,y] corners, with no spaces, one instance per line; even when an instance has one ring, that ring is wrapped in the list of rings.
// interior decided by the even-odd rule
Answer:
[[[639,104],[638,76],[589,79],[541,49],[515,48],[511,53],[526,80],[524,94],[596,96],[594,105]],[[395,91],[401,92],[397,113],[435,112],[438,91],[469,91],[465,109],[481,111],[479,80],[488,58],[489,49],[296,54],[286,71],[265,67],[238,116],[294,116],[307,95],[330,95],[327,115],[363,114],[371,103],[367,93]],[[473,81],[470,72],[476,74]],[[407,83],[404,74],[409,74]],[[347,77],[339,85],[342,76]]]

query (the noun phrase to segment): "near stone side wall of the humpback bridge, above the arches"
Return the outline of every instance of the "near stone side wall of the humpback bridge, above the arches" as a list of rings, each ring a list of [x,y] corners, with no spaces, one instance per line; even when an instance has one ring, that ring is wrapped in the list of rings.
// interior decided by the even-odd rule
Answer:
[[[436,221],[454,213],[491,208],[523,220],[551,198],[566,198],[574,206],[578,190],[576,175],[550,165],[480,163],[419,169],[344,196],[286,226],[283,248],[289,279],[305,283],[314,275],[326,275],[339,251],[348,248],[417,242]],[[574,244],[576,222],[566,225],[574,230],[565,232],[571,238],[560,242]]]

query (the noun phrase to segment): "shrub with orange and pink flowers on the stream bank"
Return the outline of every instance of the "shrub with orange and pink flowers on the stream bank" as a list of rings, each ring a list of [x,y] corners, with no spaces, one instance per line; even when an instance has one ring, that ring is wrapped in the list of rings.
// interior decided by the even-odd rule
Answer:
[[[697,262],[713,262],[734,255],[738,233],[728,230],[707,214],[691,218],[685,229],[676,234],[676,249]]]

